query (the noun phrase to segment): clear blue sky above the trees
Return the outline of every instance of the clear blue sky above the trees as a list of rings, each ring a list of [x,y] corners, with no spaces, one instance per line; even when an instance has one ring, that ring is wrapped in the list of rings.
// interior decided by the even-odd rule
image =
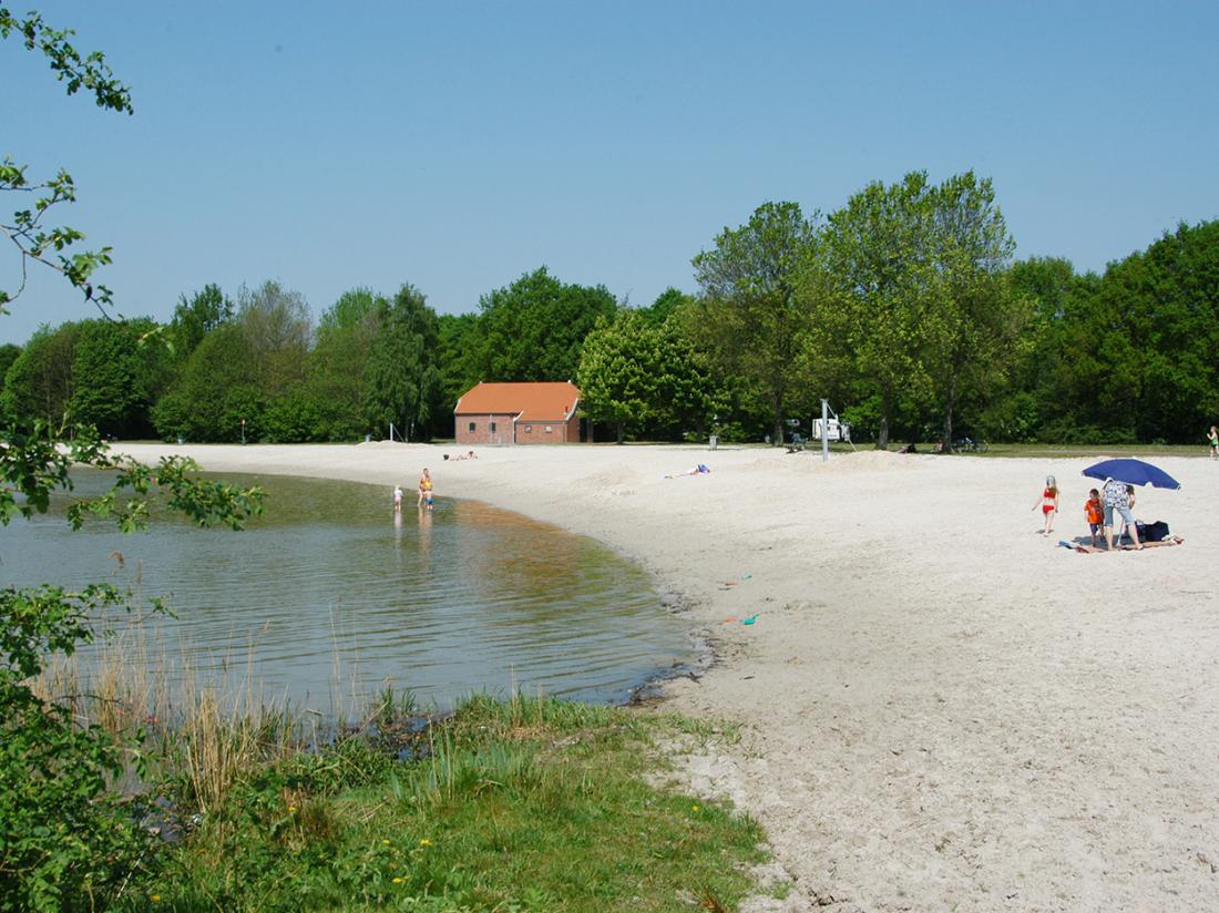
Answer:
[[[920,168],[992,178],[1018,256],[1078,269],[1219,217],[1217,4],[350,7],[41,4],[133,117],[0,44],[0,154],[73,174],[59,221],[113,246],[121,313],[268,278],[315,313],[403,282],[463,312],[541,265],[646,305],[764,201]],[[33,273],[0,340],[82,316]]]

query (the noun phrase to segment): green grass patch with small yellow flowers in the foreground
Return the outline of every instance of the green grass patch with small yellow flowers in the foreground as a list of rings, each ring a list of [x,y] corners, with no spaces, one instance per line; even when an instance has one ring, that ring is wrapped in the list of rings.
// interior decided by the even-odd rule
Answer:
[[[649,784],[674,733],[709,737],[673,716],[475,696],[412,761],[347,739],[236,783],[130,906],[733,909],[763,835]]]

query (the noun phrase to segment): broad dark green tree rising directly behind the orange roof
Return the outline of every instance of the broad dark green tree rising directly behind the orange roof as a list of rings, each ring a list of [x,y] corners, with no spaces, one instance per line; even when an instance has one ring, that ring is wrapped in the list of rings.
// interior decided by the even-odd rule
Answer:
[[[570,380],[580,346],[617,302],[603,285],[567,285],[541,267],[479,301],[477,380]]]

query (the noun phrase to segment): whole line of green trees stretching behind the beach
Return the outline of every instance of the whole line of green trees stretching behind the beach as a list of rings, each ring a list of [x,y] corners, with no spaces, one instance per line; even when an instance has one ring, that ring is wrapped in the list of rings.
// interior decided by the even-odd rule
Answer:
[[[781,441],[822,397],[879,446],[1181,442],[1219,419],[1219,222],[1103,274],[1014,249],[990,180],[912,172],[824,216],[759,206],[692,258],[696,294],[642,307],[542,267],[464,314],[403,284],[315,323],[266,282],[183,295],[165,324],[44,325],[0,346],[0,410],[124,439],[427,440],[480,380],[570,379],[599,440]]]

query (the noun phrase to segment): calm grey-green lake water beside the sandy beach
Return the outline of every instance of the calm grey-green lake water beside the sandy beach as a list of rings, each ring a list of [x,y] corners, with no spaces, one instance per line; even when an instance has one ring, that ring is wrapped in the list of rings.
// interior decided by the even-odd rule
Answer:
[[[395,516],[384,486],[226,479],[267,491],[244,531],[158,516],[147,533],[72,533],[62,496],[0,528],[0,584],[110,580],[165,597],[177,618],[141,625],[141,662],[171,681],[185,667],[252,679],[263,698],[328,714],[386,681],[441,709],[513,686],[613,702],[690,658],[647,575],[589,539],[477,502],[421,514],[411,491]],[[104,481],[82,473],[77,492]]]

